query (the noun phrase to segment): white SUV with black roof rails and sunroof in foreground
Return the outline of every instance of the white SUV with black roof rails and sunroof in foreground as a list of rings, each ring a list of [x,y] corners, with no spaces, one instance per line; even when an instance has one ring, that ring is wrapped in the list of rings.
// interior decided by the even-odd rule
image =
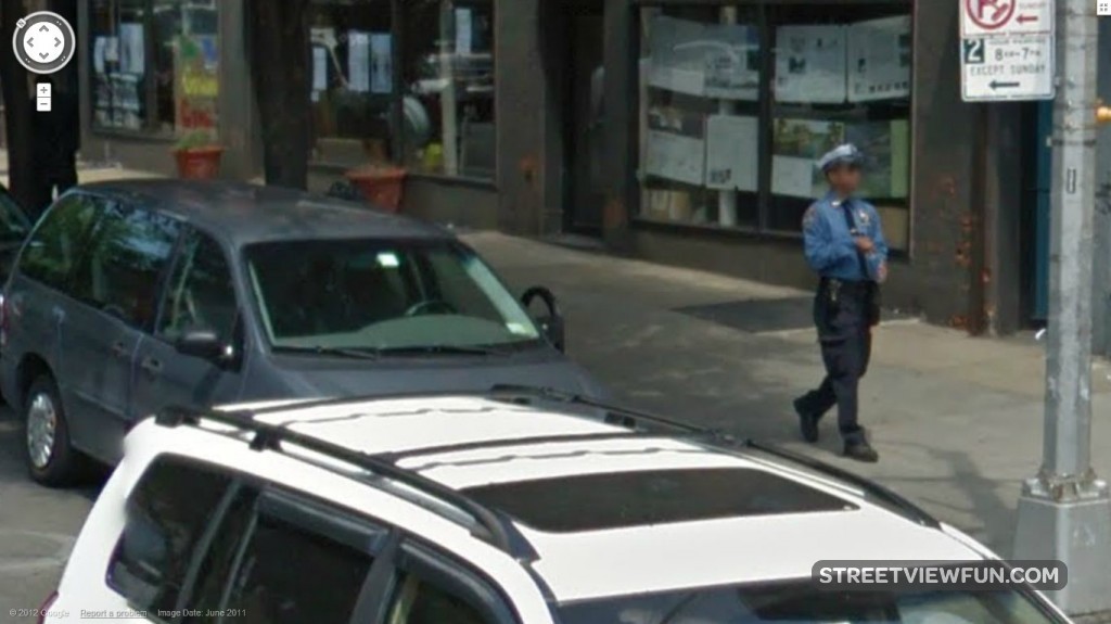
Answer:
[[[858,477],[649,423],[523,389],[170,411],[46,622],[1067,622],[1033,592],[819,593],[819,560],[991,555]]]

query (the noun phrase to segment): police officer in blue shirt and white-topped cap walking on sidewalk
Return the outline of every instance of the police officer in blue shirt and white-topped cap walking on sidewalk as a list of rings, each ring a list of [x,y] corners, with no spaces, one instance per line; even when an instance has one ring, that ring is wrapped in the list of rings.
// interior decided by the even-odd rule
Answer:
[[[818,161],[829,193],[802,219],[807,262],[820,275],[814,295],[814,324],[821,343],[825,379],[817,390],[795,399],[802,437],[818,441],[818,421],[837,405],[844,455],[877,462],[857,420],[860,378],[868,370],[872,326],[879,322],[879,284],[888,274],[888,245],[872,204],[854,198],[863,154],[844,144]]]

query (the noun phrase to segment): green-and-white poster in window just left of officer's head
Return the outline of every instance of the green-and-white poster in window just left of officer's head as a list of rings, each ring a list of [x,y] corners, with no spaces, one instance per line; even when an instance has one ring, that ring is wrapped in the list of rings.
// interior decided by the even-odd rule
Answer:
[[[843,122],[777,119],[772,128],[772,193],[795,198],[824,195],[825,180],[817,167],[818,159],[844,142]]]

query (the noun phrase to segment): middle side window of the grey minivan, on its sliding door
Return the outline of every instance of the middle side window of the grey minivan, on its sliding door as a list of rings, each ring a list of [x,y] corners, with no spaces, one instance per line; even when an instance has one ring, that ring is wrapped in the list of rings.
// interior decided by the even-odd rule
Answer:
[[[99,199],[103,205],[74,294],[136,328],[154,321],[158,285],[180,224],[164,214]]]

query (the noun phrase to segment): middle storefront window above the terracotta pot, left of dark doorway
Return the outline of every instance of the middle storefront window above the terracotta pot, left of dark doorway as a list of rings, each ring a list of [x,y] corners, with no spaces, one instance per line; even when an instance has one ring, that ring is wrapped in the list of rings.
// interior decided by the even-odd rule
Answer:
[[[312,19],[316,160],[493,177],[492,0],[321,1]]]

